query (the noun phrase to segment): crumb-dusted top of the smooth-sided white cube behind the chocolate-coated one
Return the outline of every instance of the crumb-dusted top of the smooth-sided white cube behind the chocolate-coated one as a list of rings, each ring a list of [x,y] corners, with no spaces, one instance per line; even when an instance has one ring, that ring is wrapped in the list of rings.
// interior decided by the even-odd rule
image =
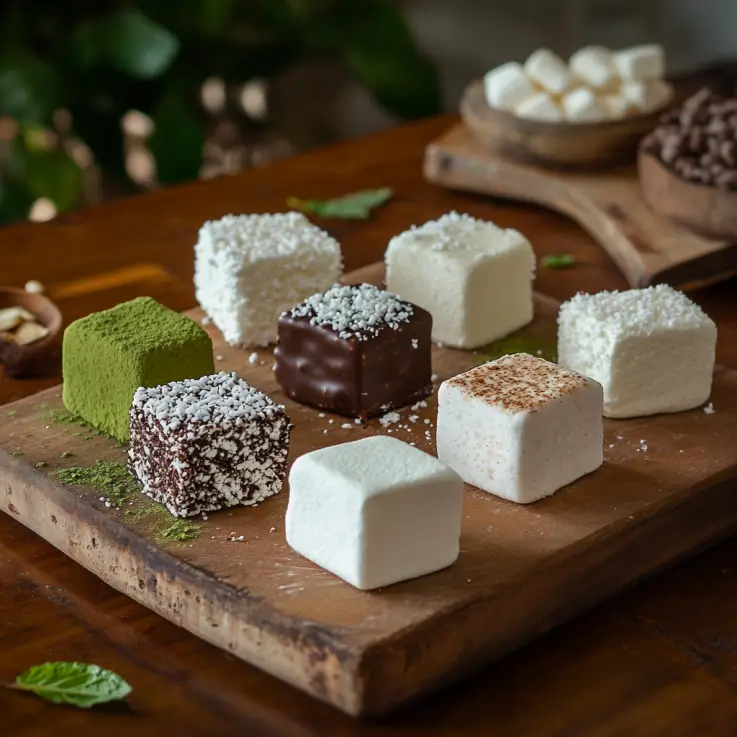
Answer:
[[[437,220],[413,225],[392,238],[387,256],[400,245],[412,244],[418,249],[433,251],[477,251],[504,253],[517,246],[523,237],[511,229],[499,228],[488,220],[480,220],[466,213],[448,212]]]

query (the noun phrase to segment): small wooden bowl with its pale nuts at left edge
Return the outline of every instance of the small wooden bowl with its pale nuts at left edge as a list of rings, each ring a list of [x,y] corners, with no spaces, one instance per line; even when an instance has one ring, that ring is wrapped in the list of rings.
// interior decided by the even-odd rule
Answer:
[[[59,370],[62,317],[42,294],[0,287],[0,364],[13,378]]]

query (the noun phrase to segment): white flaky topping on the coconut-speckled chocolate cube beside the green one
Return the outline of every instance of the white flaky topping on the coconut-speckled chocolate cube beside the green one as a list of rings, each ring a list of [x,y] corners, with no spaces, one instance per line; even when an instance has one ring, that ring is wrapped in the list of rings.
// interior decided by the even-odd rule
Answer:
[[[154,415],[165,432],[191,422],[242,425],[272,418],[284,410],[234,373],[225,371],[199,379],[141,387],[133,395],[132,405]]]

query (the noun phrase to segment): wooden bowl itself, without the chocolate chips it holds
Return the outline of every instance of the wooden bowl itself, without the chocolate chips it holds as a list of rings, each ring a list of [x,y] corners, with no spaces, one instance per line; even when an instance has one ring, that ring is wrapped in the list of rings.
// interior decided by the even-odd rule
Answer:
[[[637,168],[642,196],[654,212],[695,233],[737,240],[737,192],[681,179],[642,149]]]

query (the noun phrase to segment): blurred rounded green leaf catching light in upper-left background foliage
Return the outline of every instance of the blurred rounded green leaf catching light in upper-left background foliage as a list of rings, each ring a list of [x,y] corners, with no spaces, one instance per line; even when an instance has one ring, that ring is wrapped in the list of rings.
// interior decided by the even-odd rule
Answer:
[[[138,10],[124,9],[107,19],[107,53],[120,71],[137,79],[155,79],[174,61],[179,40]]]

